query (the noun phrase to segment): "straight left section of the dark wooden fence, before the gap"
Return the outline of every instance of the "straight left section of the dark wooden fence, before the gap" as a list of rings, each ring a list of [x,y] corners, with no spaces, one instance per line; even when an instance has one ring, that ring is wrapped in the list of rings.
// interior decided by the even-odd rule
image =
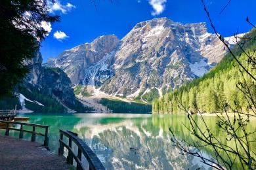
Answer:
[[[49,126],[44,126],[40,124],[30,124],[30,123],[25,123],[25,122],[12,122],[12,121],[5,121],[5,120],[0,120],[0,123],[2,124],[0,126],[0,129],[5,129],[5,135],[9,136],[10,130],[14,131],[20,131],[19,138],[22,139],[24,132],[26,133],[32,133],[31,141],[35,142],[35,136],[43,136],[45,137],[45,140],[43,141],[43,146],[48,148],[49,146],[49,137],[48,137],[48,127]],[[20,128],[14,128],[11,125],[20,125]],[[32,126],[32,131],[24,129],[24,126]],[[35,131],[35,127],[43,128],[45,129],[45,133],[39,133]]]

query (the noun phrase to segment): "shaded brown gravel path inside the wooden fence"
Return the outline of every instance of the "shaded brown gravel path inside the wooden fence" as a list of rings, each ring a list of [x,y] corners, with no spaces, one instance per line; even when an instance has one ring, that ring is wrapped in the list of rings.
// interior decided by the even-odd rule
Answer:
[[[70,169],[70,165],[39,143],[0,135],[0,169]]]

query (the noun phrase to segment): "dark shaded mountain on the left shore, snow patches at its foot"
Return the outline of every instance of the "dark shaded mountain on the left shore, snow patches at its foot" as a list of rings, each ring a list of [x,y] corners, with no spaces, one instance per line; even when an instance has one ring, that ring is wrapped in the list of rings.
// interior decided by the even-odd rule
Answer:
[[[39,52],[34,58],[24,61],[24,65],[30,68],[22,84],[16,90],[16,97],[3,99],[0,107],[13,109],[18,105],[21,112],[75,112],[87,111],[75,98],[74,90],[71,88],[70,78],[58,68],[45,68],[42,66],[43,58]],[[10,104],[5,107],[4,101]]]

